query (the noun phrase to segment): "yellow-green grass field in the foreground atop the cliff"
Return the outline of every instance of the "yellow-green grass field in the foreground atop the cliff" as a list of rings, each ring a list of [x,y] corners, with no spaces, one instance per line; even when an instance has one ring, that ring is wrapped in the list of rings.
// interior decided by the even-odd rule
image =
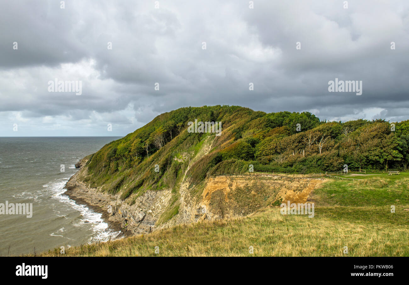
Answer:
[[[310,196],[314,218],[282,215],[279,207],[267,207],[244,218],[178,225],[145,236],[73,247],[66,254],[55,249],[42,255],[409,256],[408,185],[409,173],[361,181],[332,178]]]

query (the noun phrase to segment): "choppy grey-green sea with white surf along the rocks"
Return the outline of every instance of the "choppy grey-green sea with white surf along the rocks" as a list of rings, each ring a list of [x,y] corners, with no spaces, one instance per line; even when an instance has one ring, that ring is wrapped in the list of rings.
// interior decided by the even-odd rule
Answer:
[[[120,232],[63,195],[63,187],[77,171],[76,162],[118,138],[0,138],[0,203],[33,204],[31,218],[0,214],[0,256],[115,239]]]

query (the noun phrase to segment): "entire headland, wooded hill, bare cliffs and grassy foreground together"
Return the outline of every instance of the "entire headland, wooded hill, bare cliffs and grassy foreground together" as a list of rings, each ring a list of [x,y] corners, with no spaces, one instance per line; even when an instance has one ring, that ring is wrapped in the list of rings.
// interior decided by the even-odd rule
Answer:
[[[218,122],[220,136],[189,132],[195,120]],[[309,112],[187,107],[82,163],[76,181],[110,196],[101,208],[136,236],[67,256],[409,256],[409,120],[327,122]],[[301,178],[346,165],[377,175]],[[256,172],[274,175],[251,177]],[[286,199],[315,203],[314,218],[281,215]],[[154,232],[138,235],[151,225]]]

